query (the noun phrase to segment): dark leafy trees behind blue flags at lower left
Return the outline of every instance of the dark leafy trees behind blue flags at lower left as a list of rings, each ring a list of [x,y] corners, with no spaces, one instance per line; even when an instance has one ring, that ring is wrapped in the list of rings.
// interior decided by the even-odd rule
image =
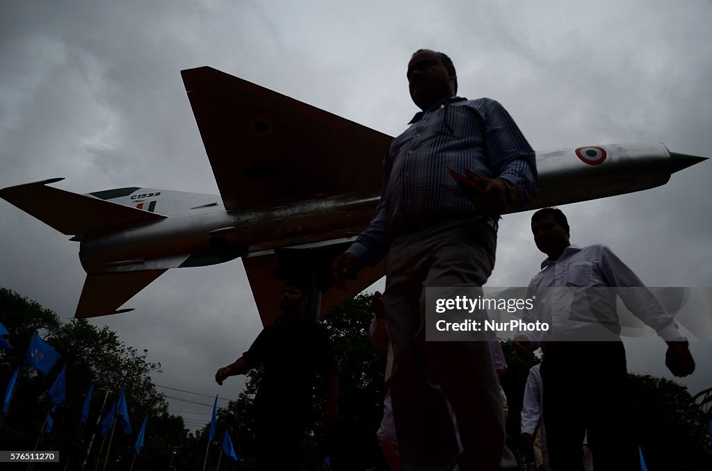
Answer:
[[[120,428],[115,430],[110,462],[130,463],[137,433],[146,415],[149,419],[142,464],[135,469],[147,467],[152,462],[156,466],[161,462],[165,467],[172,453],[166,444],[187,440],[182,418],[169,415],[164,397],[156,391],[150,374],[159,371],[160,364],[147,361],[146,351],[125,345],[108,327],[96,327],[85,319],[71,319],[63,324],[50,309],[4,288],[0,288],[0,321],[10,332],[7,339],[14,346],[14,349],[0,353],[2,393],[12,372],[23,363],[35,332],[62,356],[47,377],[30,366],[21,369],[9,413],[0,429],[4,449],[34,448],[51,405],[48,389],[63,365],[67,366],[66,400],[57,407],[53,430],[41,437],[38,450],[61,450],[62,460],[70,460],[68,469],[80,469],[92,435],[95,435],[88,462],[93,467],[102,441],[97,421],[117,399],[123,384],[126,385],[132,434],[125,435]],[[91,383],[95,386],[88,423],[80,424],[81,409]],[[107,445],[109,436],[106,436]]]

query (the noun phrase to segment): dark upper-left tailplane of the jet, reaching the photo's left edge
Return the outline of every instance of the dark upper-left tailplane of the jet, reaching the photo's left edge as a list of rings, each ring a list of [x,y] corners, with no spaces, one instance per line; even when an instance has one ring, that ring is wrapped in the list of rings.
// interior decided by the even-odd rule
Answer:
[[[57,231],[79,237],[166,218],[162,214],[47,186],[60,180],[49,179],[9,186],[0,189],[0,197]]]

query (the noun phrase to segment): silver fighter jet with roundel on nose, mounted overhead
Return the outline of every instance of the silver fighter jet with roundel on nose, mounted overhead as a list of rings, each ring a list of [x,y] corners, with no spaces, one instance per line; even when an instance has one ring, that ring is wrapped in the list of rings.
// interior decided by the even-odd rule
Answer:
[[[276,274],[304,260],[328,267],[373,216],[392,137],[213,68],[182,77],[219,196],[133,186],[82,195],[48,186],[61,179],[0,190],[79,242],[87,277],[75,317],[132,310],[119,308],[169,268],[242,258],[262,322],[271,324],[282,285]],[[538,152],[538,197],[510,211],[653,188],[704,159],[664,144]],[[345,292],[325,292],[318,312],[383,274],[382,265],[367,267]]]

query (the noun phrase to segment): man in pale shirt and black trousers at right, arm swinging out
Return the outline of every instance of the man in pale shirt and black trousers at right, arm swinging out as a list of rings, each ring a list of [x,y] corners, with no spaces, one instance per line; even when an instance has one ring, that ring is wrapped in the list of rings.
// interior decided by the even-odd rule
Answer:
[[[625,349],[620,341],[616,297],[669,345],[665,364],[687,376],[695,364],[674,319],[642,281],[605,245],[580,248],[569,242],[566,216],[544,208],[532,216],[537,248],[548,255],[533,277],[528,297],[534,309],[523,320],[540,320],[548,332],[525,332],[515,339],[520,354],[542,346],[544,423],[551,467],[582,470],[581,443],[588,442],[598,470],[639,470],[627,428]]]

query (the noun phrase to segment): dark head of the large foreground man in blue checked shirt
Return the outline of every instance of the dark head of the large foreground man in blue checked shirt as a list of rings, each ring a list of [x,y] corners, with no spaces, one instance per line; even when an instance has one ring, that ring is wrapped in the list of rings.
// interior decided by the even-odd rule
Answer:
[[[452,60],[444,53],[419,49],[408,63],[410,97],[421,110],[457,92],[457,74]]]

